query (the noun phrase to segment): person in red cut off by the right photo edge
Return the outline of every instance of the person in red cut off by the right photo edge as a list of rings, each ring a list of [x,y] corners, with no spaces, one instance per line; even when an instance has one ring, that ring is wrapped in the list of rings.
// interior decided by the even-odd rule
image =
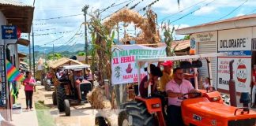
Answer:
[[[254,65],[253,69],[252,69],[252,72],[251,72],[252,76],[251,76],[251,87],[253,88],[252,89],[252,93],[251,93],[251,98],[252,98],[252,103],[251,103],[251,107],[252,108],[255,108],[255,94],[256,94],[256,65]]]

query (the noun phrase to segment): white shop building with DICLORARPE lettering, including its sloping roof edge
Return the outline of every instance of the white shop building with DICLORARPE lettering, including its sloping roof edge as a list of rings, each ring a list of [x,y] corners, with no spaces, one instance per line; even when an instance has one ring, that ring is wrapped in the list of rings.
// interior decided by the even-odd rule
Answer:
[[[191,35],[190,39],[196,42],[196,54],[228,52],[228,57],[217,57],[211,61],[213,86],[218,91],[228,93],[228,62],[234,60],[236,91],[250,92],[251,68],[256,62],[256,14],[182,28],[176,33]],[[199,76],[208,77],[205,62]]]

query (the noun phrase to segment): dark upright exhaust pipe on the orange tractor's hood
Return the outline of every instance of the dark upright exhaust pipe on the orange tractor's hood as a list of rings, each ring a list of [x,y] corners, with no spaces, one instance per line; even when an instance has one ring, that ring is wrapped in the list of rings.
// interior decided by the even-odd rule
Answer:
[[[230,74],[230,80],[229,80],[229,94],[230,94],[230,105],[231,106],[237,106],[236,104],[236,91],[235,91],[235,80],[233,78],[233,63],[234,60],[229,61],[229,74]]]

